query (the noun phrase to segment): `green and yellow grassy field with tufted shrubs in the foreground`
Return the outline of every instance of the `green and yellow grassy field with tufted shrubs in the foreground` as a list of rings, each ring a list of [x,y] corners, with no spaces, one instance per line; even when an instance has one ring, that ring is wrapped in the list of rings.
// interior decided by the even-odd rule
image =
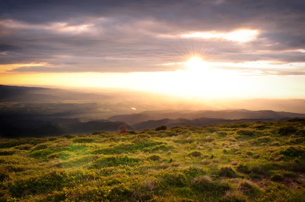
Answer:
[[[305,201],[305,120],[0,141],[0,201]]]

